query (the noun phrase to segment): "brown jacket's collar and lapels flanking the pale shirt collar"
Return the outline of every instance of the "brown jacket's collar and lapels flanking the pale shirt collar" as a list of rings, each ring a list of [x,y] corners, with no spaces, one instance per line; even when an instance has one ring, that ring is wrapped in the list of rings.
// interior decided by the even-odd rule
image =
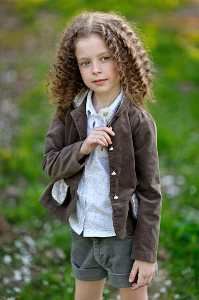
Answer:
[[[72,100],[74,109],[70,111],[70,114],[75,122],[81,140],[84,140],[87,137],[88,120],[86,114],[86,98],[89,90],[90,88],[88,87],[83,87],[80,90],[80,92]],[[119,105],[115,114],[113,115],[113,118],[109,122],[109,125],[111,125],[114,122],[116,117],[118,117],[120,114],[123,113],[123,111],[127,108],[129,102],[130,102],[129,97],[127,97],[126,94],[123,93],[122,102]]]

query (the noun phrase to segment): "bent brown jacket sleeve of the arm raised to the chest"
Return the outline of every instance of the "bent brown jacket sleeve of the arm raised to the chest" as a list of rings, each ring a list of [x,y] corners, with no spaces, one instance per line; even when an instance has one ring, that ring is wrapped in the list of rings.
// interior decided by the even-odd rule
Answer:
[[[77,153],[84,140],[65,146],[65,124],[54,116],[45,136],[43,171],[53,179],[67,178],[77,173],[87,162],[89,154],[77,161]]]

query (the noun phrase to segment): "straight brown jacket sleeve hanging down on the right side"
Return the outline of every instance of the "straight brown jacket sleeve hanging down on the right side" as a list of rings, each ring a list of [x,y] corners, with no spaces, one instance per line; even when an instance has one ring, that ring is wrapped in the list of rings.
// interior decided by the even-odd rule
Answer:
[[[157,126],[152,115],[144,110],[135,118],[133,127],[135,169],[139,181],[135,194],[140,203],[131,257],[156,262],[162,210]]]

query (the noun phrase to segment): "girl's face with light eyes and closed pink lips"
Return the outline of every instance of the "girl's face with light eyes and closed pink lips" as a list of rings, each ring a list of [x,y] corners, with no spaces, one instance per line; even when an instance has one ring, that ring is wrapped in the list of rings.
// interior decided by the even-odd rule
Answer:
[[[115,61],[102,37],[92,33],[89,38],[78,39],[75,56],[84,83],[97,93],[120,88],[120,75]],[[105,79],[99,83],[96,79]]]

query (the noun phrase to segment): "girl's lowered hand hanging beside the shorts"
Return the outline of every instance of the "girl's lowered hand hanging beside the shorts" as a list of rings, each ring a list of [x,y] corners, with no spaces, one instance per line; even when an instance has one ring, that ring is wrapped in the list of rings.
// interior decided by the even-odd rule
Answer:
[[[156,263],[155,262],[148,262],[142,260],[135,260],[131,274],[129,278],[132,279],[131,282],[135,280],[136,274],[138,273],[138,281],[137,283],[133,283],[132,290],[138,289],[142,286],[148,285],[154,279],[156,274]]]

